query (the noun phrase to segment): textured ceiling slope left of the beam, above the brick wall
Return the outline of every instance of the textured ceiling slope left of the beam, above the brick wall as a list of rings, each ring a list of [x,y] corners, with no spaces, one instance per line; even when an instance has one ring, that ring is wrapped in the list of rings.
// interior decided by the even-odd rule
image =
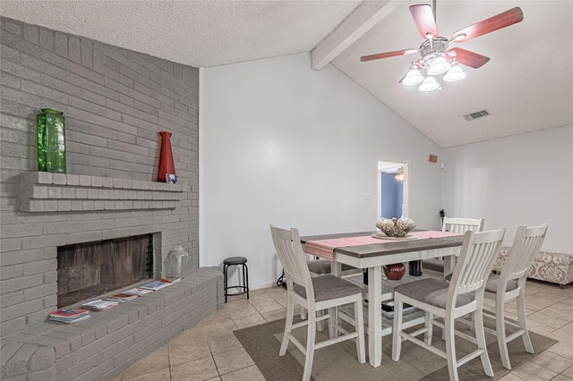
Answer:
[[[195,67],[310,51],[362,1],[12,1],[6,17]]]

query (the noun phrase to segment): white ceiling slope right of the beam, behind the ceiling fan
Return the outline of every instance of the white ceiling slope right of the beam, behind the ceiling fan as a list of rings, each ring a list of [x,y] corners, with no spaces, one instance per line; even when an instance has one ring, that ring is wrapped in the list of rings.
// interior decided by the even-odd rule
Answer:
[[[424,135],[445,148],[573,124],[573,2],[438,1],[438,30],[446,38],[514,6],[522,8],[525,18],[506,29],[452,44],[491,61],[477,70],[464,66],[466,79],[427,94],[417,86],[398,84],[419,55],[359,60],[361,55],[419,47],[423,39],[408,10],[410,4],[415,3],[400,4],[338,55],[334,64]],[[484,108],[492,115],[472,122],[462,117]]]

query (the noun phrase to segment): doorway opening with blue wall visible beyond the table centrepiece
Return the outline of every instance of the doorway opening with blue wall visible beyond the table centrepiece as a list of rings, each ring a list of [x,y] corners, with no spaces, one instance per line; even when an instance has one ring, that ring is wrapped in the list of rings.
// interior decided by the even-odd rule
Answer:
[[[407,163],[378,162],[378,217],[402,218],[408,216]]]

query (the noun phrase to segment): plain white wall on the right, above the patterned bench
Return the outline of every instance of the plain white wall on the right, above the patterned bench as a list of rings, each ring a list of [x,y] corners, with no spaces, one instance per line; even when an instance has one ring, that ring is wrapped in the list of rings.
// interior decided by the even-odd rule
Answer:
[[[573,252],[573,126],[444,149],[447,216],[485,217],[485,229],[550,224],[543,250]]]

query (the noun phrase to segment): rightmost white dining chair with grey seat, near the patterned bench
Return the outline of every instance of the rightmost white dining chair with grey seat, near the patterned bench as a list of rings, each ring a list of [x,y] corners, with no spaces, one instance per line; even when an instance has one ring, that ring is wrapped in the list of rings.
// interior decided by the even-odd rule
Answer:
[[[541,226],[519,226],[516,238],[509,249],[508,258],[501,267],[500,275],[490,275],[485,285],[485,297],[495,301],[495,330],[486,332],[495,334],[500,347],[501,363],[504,368],[511,368],[508,343],[521,336],[528,353],[534,353],[526,323],[526,280],[529,267],[539,253],[548,224]],[[505,303],[517,300],[517,321],[505,316]],[[490,311],[483,311],[486,315]],[[519,329],[506,336],[505,325],[508,323]]]

